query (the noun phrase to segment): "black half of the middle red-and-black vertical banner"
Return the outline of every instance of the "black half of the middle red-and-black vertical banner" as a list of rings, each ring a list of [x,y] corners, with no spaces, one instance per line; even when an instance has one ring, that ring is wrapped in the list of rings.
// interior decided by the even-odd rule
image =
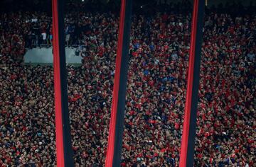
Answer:
[[[113,157],[113,163],[112,163],[113,166],[120,166],[120,163],[121,163],[131,20],[132,20],[132,0],[126,0],[125,14],[124,14],[123,43],[122,43],[122,59],[121,59],[121,67],[120,67],[120,79],[119,79],[119,91],[118,91],[118,103],[117,103],[117,120],[115,125],[115,134],[114,134],[114,157]]]

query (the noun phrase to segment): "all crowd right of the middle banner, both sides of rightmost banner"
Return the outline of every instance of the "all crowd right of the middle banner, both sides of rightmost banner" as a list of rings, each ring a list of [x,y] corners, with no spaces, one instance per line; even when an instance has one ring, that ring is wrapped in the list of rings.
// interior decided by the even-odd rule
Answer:
[[[122,165],[178,166],[191,17],[134,22]],[[255,28],[255,15],[205,18],[195,166],[256,165]]]

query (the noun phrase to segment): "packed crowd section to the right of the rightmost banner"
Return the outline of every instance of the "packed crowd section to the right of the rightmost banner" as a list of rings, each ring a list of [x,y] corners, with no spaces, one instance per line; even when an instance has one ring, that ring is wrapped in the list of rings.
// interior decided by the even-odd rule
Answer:
[[[206,18],[196,164],[256,165],[256,18]]]

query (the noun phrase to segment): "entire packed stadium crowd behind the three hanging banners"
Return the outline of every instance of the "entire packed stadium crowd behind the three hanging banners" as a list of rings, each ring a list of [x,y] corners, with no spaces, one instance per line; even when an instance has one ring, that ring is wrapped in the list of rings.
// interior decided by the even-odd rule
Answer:
[[[50,45],[51,18],[0,18],[0,166],[55,166],[53,68],[20,64],[25,48]],[[67,67],[75,166],[104,166],[118,23],[65,16],[66,45],[84,57]],[[206,14],[195,166],[256,166],[255,30],[255,14]],[[189,14],[133,16],[122,166],[178,166],[190,32]]]

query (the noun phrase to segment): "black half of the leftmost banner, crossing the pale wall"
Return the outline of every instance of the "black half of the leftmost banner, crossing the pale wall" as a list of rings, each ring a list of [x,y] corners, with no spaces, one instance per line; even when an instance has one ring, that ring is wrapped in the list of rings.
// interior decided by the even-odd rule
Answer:
[[[67,69],[65,62],[65,25],[64,25],[64,7],[65,0],[58,1],[58,37],[60,52],[60,91],[61,108],[63,120],[63,151],[65,167],[74,166],[73,149],[71,145],[70,119],[68,113],[68,88],[67,88]]]

